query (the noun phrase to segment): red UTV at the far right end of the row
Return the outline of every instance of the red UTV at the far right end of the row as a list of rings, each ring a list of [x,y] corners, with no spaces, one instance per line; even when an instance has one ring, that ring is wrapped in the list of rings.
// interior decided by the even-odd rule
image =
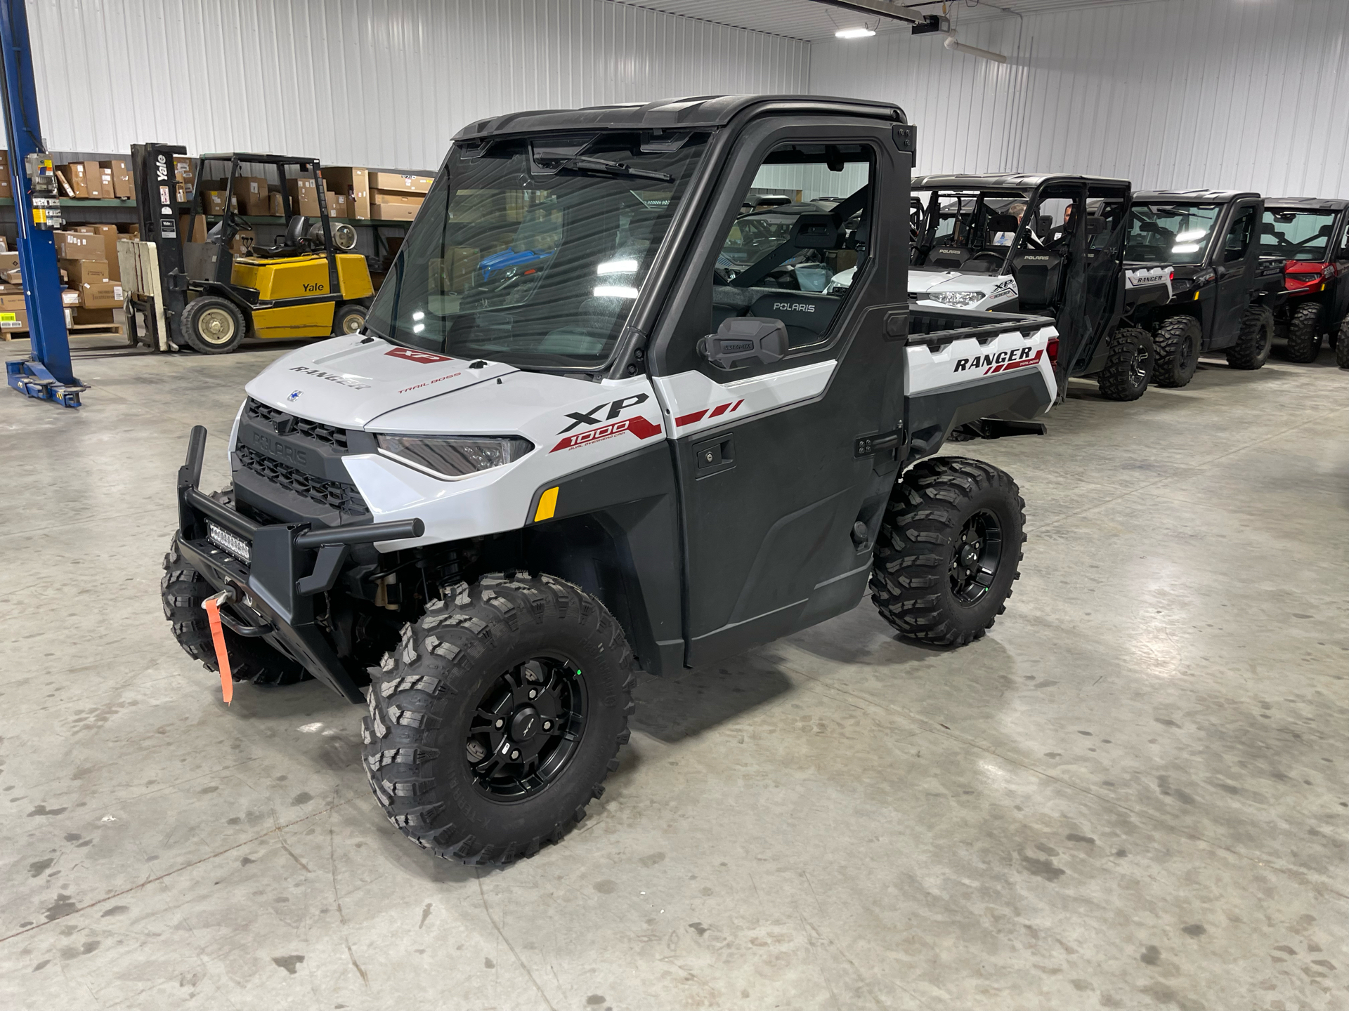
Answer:
[[[1349,368],[1349,201],[1267,198],[1260,253],[1287,260],[1288,299],[1275,325],[1287,336],[1288,361],[1315,361],[1326,336],[1340,368]]]

